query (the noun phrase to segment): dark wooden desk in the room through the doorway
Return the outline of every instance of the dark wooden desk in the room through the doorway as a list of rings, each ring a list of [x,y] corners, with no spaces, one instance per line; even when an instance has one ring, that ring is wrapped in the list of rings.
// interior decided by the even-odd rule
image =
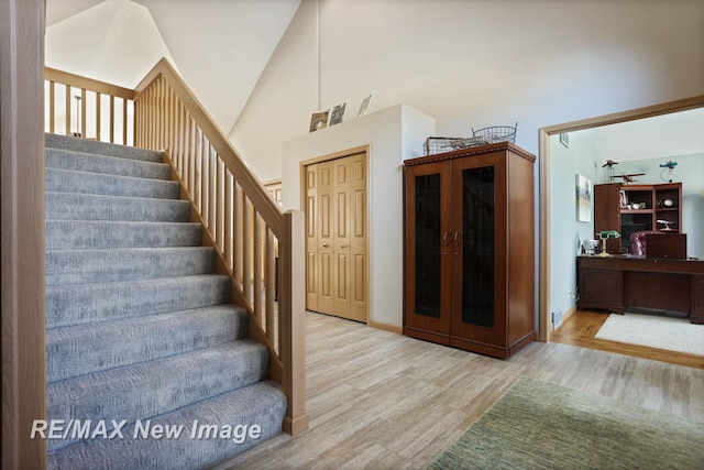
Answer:
[[[623,314],[626,307],[684,311],[704,324],[704,261],[578,256],[578,308]]]

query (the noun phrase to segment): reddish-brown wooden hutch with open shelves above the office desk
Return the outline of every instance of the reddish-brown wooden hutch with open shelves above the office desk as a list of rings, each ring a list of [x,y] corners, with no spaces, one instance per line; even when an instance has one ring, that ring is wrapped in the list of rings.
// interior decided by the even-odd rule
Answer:
[[[682,230],[682,183],[657,185],[594,185],[594,231],[618,230],[606,251],[628,253],[630,234],[641,230],[679,233]]]

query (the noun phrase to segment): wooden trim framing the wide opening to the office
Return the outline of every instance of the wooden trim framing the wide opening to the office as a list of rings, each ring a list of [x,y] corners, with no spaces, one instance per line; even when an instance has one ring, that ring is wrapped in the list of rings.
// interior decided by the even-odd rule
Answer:
[[[654,116],[669,114],[671,112],[686,111],[689,109],[702,107],[704,107],[704,95],[538,129],[538,190],[540,210],[540,282],[538,289],[538,320],[540,325],[540,341],[550,341],[550,336],[552,335],[552,325],[550,324],[550,135],[651,118]]]

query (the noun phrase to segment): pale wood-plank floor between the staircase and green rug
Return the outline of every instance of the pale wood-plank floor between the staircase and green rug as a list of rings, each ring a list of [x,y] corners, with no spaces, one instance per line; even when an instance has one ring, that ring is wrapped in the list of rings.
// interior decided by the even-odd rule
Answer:
[[[704,423],[704,370],[564,343],[498,360],[321,314],[306,317],[310,429],[217,469],[418,469],[519,376]]]

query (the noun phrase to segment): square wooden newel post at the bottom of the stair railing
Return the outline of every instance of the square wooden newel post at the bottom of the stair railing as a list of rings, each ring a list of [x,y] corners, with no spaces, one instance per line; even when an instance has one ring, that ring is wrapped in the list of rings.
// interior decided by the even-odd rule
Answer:
[[[306,413],[306,239],[301,211],[284,214],[282,291],[279,304],[280,359],[284,393],[288,401],[284,431],[296,435],[308,429]]]

